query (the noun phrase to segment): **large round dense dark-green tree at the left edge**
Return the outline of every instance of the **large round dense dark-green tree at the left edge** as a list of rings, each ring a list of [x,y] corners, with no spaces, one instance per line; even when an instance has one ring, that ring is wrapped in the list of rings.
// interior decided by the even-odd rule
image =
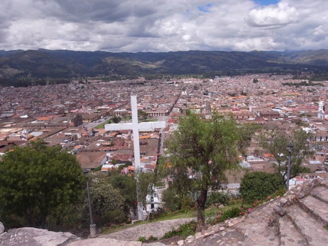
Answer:
[[[0,173],[0,211],[26,218],[28,226],[37,228],[48,228],[50,218],[60,220],[85,189],[75,156],[41,140],[7,152]]]

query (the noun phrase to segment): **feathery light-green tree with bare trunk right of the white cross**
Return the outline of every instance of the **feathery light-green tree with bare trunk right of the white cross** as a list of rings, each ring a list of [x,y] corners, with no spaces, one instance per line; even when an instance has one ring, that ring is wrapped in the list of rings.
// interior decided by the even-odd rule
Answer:
[[[208,121],[191,113],[180,120],[178,131],[166,143],[173,185],[181,193],[197,194],[198,229],[204,223],[208,190],[224,179],[224,171],[239,166],[240,135],[232,117],[214,114]]]

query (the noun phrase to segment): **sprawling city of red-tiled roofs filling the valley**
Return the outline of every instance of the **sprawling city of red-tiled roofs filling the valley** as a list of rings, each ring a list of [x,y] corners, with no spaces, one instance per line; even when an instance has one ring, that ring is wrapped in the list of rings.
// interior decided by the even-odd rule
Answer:
[[[122,122],[131,121],[130,95],[137,95],[138,109],[146,112],[149,120],[166,121],[165,128],[140,135],[140,141],[145,143],[140,154],[146,168],[155,168],[151,164],[157,161],[158,154],[164,153],[163,141],[177,129],[179,117],[190,110],[204,119],[211,118],[213,112],[231,113],[238,122],[276,127],[286,134],[301,122],[304,129],[314,132],[315,141],[322,146],[314,158],[316,163],[309,167],[325,175],[328,128],[323,109],[327,81],[289,86],[286,84],[304,80],[292,79],[292,75],[254,74],[170,81],[141,77],[102,82],[88,78],[83,82],[2,88],[1,153],[12,145],[43,139],[49,146],[60,145],[75,154],[83,169],[107,163],[103,168],[107,171],[113,159],[118,163],[133,162],[132,130],[106,131],[104,123],[113,116],[120,117]],[[250,147],[247,155],[254,156],[255,149]],[[261,165],[251,164],[252,169],[270,169],[272,165],[264,156],[265,153],[260,156]]]

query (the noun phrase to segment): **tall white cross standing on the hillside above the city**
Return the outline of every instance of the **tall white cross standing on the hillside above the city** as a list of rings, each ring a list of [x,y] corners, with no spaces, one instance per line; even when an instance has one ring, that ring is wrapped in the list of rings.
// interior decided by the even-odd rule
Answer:
[[[106,124],[106,131],[117,131],[117,130],[130,130],[133,131],[133,146],[134,146],[134,167],[135,173],[140,171],[140,148],[139,148],[139,130],[141,131],[153,131],[155,128],[165,128],[165,121],[156,122],[140,122],[138,123],[138,107],[137,107],[137,96],[131,95],[131,109],[132,109],[132,123],[123,124]],[[138,200],[138,219],[144,220],[144,212],[142,209],[142,203]]]

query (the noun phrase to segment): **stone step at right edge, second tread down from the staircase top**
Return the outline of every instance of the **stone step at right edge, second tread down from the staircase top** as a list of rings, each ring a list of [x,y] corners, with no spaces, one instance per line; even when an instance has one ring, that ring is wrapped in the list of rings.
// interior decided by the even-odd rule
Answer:
[[[328,203],[325,203],[313,196],[307,196],[299,199],[300,207],[323,226],[328,226]]]

